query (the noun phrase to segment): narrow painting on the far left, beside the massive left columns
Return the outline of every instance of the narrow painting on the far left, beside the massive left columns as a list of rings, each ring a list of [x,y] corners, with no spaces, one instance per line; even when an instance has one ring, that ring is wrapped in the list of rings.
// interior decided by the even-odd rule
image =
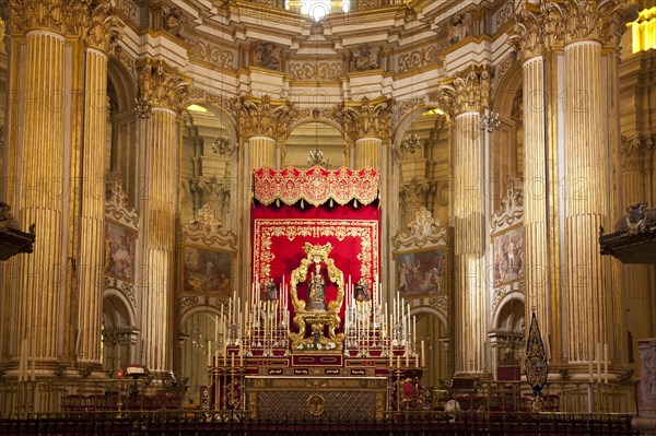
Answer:
[[[134,243],[137,233],[105,222],[105,275],[134,283]]]

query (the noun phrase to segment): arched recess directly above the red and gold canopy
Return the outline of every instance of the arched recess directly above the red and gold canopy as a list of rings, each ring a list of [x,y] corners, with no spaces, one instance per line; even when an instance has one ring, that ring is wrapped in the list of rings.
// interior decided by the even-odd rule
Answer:
[[[312,166],[309,153],[318,150],[326,161],[325,167],[336,169],[349,166],[343,134],[333,126],[324,121],[308,121],[296,126],[284,144],[282,166],[306,169]]]

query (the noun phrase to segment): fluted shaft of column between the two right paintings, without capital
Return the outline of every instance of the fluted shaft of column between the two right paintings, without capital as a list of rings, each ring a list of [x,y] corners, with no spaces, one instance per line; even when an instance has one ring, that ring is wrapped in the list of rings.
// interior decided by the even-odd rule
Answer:
[[[454,216],[456,373],[482,372],[483,141],[478,111],[455,117]]]

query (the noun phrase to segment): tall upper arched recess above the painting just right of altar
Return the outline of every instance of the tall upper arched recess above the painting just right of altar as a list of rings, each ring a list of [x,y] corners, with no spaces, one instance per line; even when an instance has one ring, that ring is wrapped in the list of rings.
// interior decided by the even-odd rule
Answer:
[[[413,108],[394,135],[398,170],[399,228],[405,229],[420,207],[446,224],[450,211],[449,123],[436,106]]]

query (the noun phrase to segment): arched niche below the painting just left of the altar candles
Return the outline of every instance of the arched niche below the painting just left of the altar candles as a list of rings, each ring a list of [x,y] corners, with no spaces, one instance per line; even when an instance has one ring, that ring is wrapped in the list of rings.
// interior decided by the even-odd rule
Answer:
[[[198,307],[185,313],[180,322],[180,375],[189,386],[189,398],[196,404],[200,403],[200,387],[211,384],[209,358],[218,350],[223,350],[219,321],[220,314],[214,308]],[[223,352],[219,354],[223,355]]]

